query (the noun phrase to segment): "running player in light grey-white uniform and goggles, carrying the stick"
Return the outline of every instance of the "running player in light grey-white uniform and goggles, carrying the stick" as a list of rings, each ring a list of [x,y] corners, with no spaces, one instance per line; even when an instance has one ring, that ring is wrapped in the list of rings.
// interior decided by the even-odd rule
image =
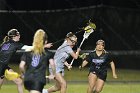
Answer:
[[[56,50],[54,55],[54,62],[56,64],[56,74],[55,81],[56,84],[50,87],[48,90],[43,89],[43,93],[52,93],[56,91],[60,91],[60,93],[66,93],[67,84],[64,79],[64,65],[71,68],[71,65],[66,62],[66,59],[71,55],[74,59],[78,58],[80,48],[77,49],[77,53],[75,53],[72,48],[77,43],[77,37],[72,33],[68,33],[66,35],[66,39],[64,43]]]

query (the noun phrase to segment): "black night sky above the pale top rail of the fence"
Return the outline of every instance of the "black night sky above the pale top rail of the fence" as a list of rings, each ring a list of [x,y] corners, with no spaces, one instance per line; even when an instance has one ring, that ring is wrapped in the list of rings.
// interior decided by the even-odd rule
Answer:
[[[106,5],[121,8],[140,8],[140,0],[0,0],[1,9],[48,10]]]

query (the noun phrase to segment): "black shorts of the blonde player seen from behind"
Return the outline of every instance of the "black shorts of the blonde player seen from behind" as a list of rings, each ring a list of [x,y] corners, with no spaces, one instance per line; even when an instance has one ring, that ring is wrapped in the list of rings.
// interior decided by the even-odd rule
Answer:
[[[36,90],[36,91],[40,91],[42,93],[42,90],[45,86],[45,83],[39,82],[39,81],[24,81],[24,87],[25,89],[27,89],[28,91],[30,90]]]

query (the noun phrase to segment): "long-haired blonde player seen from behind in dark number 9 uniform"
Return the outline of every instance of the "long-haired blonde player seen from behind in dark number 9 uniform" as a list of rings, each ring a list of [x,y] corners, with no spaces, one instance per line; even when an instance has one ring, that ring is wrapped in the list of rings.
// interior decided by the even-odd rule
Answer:
[[[48,64],[53,68],[55,74],[55,65],[53,53],[44,49],[47,42],[47,35],[39,29],[34,35],[33,49],[23,54],[19,65],[24,74],[24,86],[30,93],[42,93],[46,84],[46,69]],[[50,78],[54,78],[54,74]]]

